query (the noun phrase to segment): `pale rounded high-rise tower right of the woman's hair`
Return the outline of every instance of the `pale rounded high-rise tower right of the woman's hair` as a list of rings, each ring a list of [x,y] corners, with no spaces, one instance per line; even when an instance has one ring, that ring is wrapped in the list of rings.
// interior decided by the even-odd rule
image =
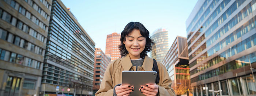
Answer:
[[[155,45],[152,46],[150,55],[158,62],[162,62],[163,58],[165,58],[165,55],[169,50],[168,31],[166,29],[159,28],[153,32],[151,39]]]

